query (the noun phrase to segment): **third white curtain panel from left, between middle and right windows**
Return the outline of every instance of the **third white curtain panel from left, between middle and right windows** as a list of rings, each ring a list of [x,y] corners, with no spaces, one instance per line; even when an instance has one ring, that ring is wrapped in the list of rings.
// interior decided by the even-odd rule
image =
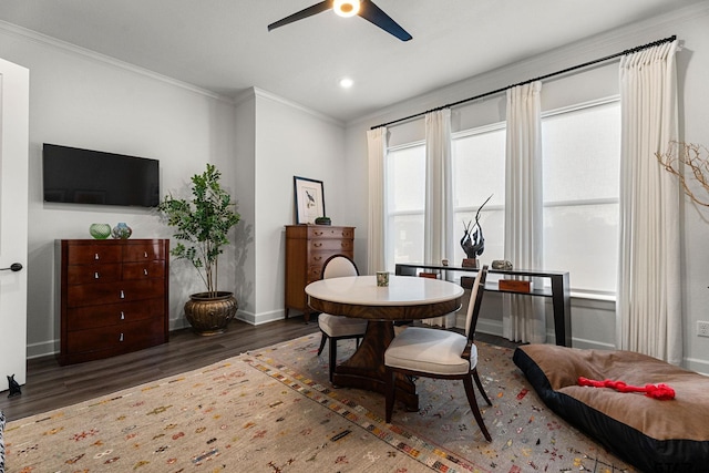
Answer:
[[[518,269],[543,268],[541,91],[540,81],[507,89],[505,259]],[[545,342],[544,301],[505,295],[502,329],[510,340]]]

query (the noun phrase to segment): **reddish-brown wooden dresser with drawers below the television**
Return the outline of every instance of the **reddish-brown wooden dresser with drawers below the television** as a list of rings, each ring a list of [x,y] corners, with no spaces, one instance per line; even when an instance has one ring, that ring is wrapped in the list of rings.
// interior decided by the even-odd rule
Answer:
[[[167,341],[167,239],[55,241],[60,364]]]

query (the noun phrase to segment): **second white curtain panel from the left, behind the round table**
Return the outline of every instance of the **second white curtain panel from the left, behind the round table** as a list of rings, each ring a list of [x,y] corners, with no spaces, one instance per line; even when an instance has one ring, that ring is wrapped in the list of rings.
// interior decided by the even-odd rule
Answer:
[[[453,172],[451,169],[451,110],[425,114],[424,263],[440,265],[453,255]],[[441,327],[455,326],[455,313],[427,319]]]

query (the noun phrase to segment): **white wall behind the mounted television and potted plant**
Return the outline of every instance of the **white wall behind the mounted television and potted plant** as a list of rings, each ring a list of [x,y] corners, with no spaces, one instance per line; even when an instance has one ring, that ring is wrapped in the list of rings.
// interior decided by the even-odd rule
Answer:
[[[162,192],[217,164],[234,187],[234,105],[192,86],[75,49],[27,30],[0,28],[0,56],[30,70],[28,354],[55,351],[53,241],[90,238],[94,222],[126,222],[132,238],[169,237],[146,209],[42,202],[42,143],[157,158]],[[238,199],[238,193],[236,193]],[[171,266],[171,327],[201,282],[184,263]],[[185,270],[187,269],[187,270]],[[233,271],[222,275],[234,288]]]

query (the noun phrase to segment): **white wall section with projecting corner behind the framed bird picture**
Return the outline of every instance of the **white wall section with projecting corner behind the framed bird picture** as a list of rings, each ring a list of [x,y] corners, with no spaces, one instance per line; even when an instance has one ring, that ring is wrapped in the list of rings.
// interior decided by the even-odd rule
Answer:
[[[238,318],[259,325],[285,317],[285,225],[296,223],[294,176],[322,181],[327,215],[333,225],[351,225],[346,214],[348,177],[341,171],[345,128],[330,117],[258,89],[238,103],[239,141],[246,134],[253,143],[239,144],[239,148],[250,146],[239,152],[239,178],[250,178],[255,196],[246,265],[249,277],[237,281],[247,285],[240,290]]]

